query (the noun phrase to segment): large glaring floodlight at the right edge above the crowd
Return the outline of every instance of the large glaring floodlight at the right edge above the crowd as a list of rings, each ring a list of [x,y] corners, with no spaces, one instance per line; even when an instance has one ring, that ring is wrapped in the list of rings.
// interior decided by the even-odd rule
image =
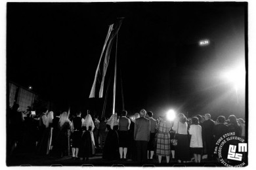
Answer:
[[[245,87],[245,69],[238,67],[237,69],[226,72],[224,77],[228,82],[232,82],[232,84],[234,84],[234,88],[236,90]]]

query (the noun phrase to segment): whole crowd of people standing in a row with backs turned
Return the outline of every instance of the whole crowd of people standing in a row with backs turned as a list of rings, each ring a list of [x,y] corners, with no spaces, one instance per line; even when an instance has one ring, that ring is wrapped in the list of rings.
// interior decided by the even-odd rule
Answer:
[[[216,141],[225,133],[235,132],[245,139],[245,121],[234,115],[219,116],[216,121],[211,114],[186,118],[182,113],[175,120],[167,115],[154,119],[153,112],[142,109],[132,118],[127,111],[100,118],[77,112],[53,112],[47,109],[39,117],[24,116],[14,105],[7,117],[7,152],[16,149],[31,151],[49,157],[70,156],[73,160],[88,161],[96,150],[105,160],[162,163],[170,160],[200,163],[204,156],[216,161],[213,154]]]

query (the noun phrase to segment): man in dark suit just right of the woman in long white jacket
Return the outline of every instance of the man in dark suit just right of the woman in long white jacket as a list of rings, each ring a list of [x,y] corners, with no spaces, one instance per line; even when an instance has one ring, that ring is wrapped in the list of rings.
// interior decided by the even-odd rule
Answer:
[[[202,135],[205,139],[205,147],[207,150],[207,160],[213,158],[213,128],[215,124],[211,120],[211,114],[205,114],[205,121],[202,124]]]

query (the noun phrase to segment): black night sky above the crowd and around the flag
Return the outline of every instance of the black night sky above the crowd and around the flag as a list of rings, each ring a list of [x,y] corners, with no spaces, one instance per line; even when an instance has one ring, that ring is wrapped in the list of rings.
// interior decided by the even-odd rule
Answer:
[[[108,25],[125,17],[117,48],[125,109],[188,111],[177,105],[186,101],[187,93],[198,97],[191,94],[191,86],[208,88],[206,72],[214,72],[214,77],[238,63],[244,65],[245,7],[246,3],[8,3],[7,78],[32,85],[58,106],[89,109]],[[202,39],[214,42],[214,62],[206,59],[196,70],[191,69],[193,62],[179,67],[182,47],[186,51],[187,45]],[[192,72],[201,75],[200,80],[188,74]],[[192,80],[185,78],[174,88],[173,82],[184,77]],[[176,90],[181,93],[175,95]]]

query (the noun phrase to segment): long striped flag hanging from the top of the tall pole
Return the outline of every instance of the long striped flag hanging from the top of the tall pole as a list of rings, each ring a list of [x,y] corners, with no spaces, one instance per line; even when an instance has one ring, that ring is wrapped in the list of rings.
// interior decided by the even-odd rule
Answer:
[[[106,71],[108,69],[108,62],[110,59],[110,52],[112,49],[112,44],[114,41],[114,38],[117,35],[117,32],[119,31],[119,28],[121,26],[122,19],[117,22],[117,24],[112,24],[108,27],[108,34],[106,36],[106,40],[104,42],[104,46],[102,49],[102,52],[100,54],[100,61],[98,62],[98,66],[95,73],[95,80],[93,81],[93,87],[91,88],[91,93],[89,95],[89,98],[95,97],[96,93],[96,86],[99,87],[98,97],[102,98],[103,96],[103,90],[104,90],[104,79],[106,75]],[[104,56],[104,61],[102,63],[102,57]],[[102,69],[100,69],[102,68]]]

